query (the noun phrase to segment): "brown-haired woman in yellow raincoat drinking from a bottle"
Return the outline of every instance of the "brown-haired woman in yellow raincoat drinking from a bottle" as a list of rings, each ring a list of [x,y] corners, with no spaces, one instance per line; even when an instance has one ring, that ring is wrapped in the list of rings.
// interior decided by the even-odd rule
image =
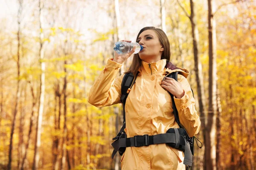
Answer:
[[[130,41],[127,41],[130,42]],[[170,45],[166,34],[159,28],[145,27],[140,30],[137,42],[143,50],[134,54],[133,62],[127,73],[137,74],[136,82],[129,92],[125,104],[125,132],[127,137],[136,135],[156,135],[166,133],[169,128],[179,128],[175,122],[172,99],[180,123],[189,136],[200,129],[200,119],[195,111],[195,99],[186,77],[189,71],[178,68],[170,60]],[[124,74],[116,77],[122,63],[135,51],[116,54],[109,59],[104,71],[94,82],[88,102],[96,107],[120,103],[121,83]],[[165,68],[165,67],[168,68]],[[166,74],[178,71],[178,82]],[[163,81],[162,81],[163,80]],[[121,158],[122,170],[183,170],[184,154],[167,144],[152,144],[143,147],[126,147]]]

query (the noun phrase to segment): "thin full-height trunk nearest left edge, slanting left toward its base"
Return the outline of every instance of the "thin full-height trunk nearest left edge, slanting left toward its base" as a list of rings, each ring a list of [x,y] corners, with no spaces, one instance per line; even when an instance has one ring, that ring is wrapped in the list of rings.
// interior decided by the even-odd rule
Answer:
[[[21,20],[21,12],[22,12],[22,2],[23,0],[19,0],[19,11],[18,11],[18,31],[17,31],[17,89],[16,89],[16,96],[15,96],[15,107],[13,110],[13,120],[12,120],[12,127],[11,127],[11,135],[10,135],[10,145],[9,145],[9,162],[7,165],[7,170],[11,170],[12,166],[12,139],[15,129],[15,122],[16,122],[16,115],[18,112],[18,103],[20,100],[20,20]]]

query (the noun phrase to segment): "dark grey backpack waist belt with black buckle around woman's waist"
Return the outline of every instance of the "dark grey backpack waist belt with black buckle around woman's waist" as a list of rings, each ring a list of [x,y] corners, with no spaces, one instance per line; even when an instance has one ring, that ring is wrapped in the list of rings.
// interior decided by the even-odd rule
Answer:
[[[161,133],[157,135],[137,135],[131,138],[127,138],[127,135],[125,133],[122,133],[119,139],[117,139],[115,142],[112,143],[112,146],[114,148],[112,153],[112,159],[115,156],[116,152],[120,150],[121,155],[124,153],[126,147],[142,147],[142,146],[148,146],[150,144],[163,144],[166,143],[171,147],[174,147],[176,149],[182,150],[184,152],[184,161],[183,164],[186,164],[188,166],[192,166],[192,153],[190,150],[189,142],[186,141],[184,136],[179,134],[178,129],[174,128],[175,133],[170,133],[167,131],[167,133]]]

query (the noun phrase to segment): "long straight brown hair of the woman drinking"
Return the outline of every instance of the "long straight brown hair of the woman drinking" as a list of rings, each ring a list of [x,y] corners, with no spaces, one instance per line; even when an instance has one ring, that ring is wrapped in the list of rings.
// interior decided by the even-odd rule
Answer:
[[[157,33],[159,41],[160,41],[161,45],[163,45],[163,48],[164,48],[161,59],[166,59],[167,60],[166,62],[168,63],[170,60],[170,57],[171,57],[170,43],[169,43],[167,35],[160,28],[155,28],[155,27],[142,28],[140,30],[139,34],[137,35],[136,42],[137,42],[140,34],[143,31],[148,30],[148,29],[154,30]],[[129,70],[127,72],[125,72],[125,74],[132,73],[135,76],[137,74],[137,71],[140,69],[140,63],[141,63],[141,59],[139,57],[139,54],[134,54],[134,58],[132,60],[131,66],[130,66]]]

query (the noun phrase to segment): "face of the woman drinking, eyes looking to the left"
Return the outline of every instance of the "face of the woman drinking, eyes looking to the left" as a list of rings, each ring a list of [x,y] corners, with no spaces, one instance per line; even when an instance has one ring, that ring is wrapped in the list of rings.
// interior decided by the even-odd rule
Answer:
[[[157,62],[161,59],[164,48],[154,30],[143,31],[137,42],[143,46],[143,50],[139,52],[140,59],[148,63]]]

